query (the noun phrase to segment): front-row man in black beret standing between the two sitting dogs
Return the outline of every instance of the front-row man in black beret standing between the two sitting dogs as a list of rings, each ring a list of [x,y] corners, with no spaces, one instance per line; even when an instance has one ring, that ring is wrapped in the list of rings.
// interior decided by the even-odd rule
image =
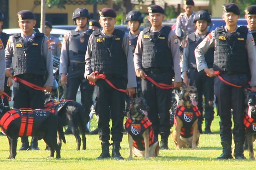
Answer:
[[[155,135],[161,135],[160,148],[168,148],[170,135],[171,89],[161,89],[145,79],[151,77],[157,83],[181,86],[180,56],[177,36],[168,26],[162,26],[165,11],[158,5],[148,7],[151,27],[140,32],[134,52],[136,75],[142,78],[142,93],[150,106],[148,118]]]

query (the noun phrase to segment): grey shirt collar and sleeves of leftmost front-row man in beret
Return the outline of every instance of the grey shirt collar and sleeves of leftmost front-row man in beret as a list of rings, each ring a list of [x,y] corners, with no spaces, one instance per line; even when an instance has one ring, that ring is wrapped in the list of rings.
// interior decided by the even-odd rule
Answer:
[[[27,41],[25,36],[23,35],[23,33],[21,33],[21,37],[22,37],[23,42]],[[33,32],[32,35],[28,38],[28,41],[32,41],[34,37],[35,37],[35,32]],[[48,40],[48,38],[45,36],[44,42],[42,43],[42,47],[41,47],[41,54],[42,54],[42,56],[44,56],[45,65],[46,65],[46,69],[47,69],[47,73],[48,73],[48,77],[47,77],[46,83],[44,85],[53,86],[52,51],[51,51],[50,44],[46,40]],[[13,36],[10,36],[10,38],[8,40],[8,44],[6,45],[6,48],[5,48],[6,68],[9,68],[12,64],[12,57],[15,52],[14,50],[15,50],[15,48],[14,48],[14,44],[13,44]]]

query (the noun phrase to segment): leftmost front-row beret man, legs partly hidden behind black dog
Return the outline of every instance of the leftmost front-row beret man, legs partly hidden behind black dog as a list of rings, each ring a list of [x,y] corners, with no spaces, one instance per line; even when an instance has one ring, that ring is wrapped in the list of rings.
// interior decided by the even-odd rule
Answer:
[[[13,65],[13,75],[35,85],[44,87],[51,92],[53,86],[53,62],[51,46],[43,33],[35,33],[35,16],[31,11],[18,12],[18,23],[22,33],[14,34],[9,38],[5,48],[6,68]],[[10,69],[5,75],[13,77]],[[27,85],[15,81],[13,84],[14,108],[44,108],[44,91],[35,90]],[[22,137],[22,147],[19,150],[29,149],[28,137]],[[37,137],[32,137],[32,150],[38,150]]]

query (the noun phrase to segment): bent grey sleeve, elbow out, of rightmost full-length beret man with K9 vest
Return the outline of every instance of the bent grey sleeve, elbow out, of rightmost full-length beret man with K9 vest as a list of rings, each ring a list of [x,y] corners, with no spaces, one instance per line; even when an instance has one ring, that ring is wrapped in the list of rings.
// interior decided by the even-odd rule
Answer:
[[[205,62],[204,54],[208,51],[209,48],[215,46],[215,41],[215,34],[214,31],[212,31],[202,40],[202,42],[195,49],[195,57],[198,71],[202,71],[205,68],[208,68],[207,63]]]

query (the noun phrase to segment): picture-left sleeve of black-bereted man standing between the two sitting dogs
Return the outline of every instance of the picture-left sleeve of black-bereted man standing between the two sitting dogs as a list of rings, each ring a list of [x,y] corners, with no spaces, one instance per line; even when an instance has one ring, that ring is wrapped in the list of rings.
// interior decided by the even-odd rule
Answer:
[[[137,40],[137,45],[133,53],[133,62],[134,62],[134,69],[138,70],[142,68],[142,51],[143,51],[143,44],[142,44],[142,35],[143,31],[140,32]]]

